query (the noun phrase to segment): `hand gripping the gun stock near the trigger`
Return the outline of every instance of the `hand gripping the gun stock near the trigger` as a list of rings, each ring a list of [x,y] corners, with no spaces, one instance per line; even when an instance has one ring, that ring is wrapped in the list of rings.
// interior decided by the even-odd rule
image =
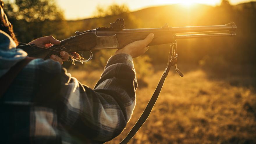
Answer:
[[[46,36],[42,38],[37,38],[33,40],[32,42],[29,42],[29,44],[34,44],[39,47],[45,47],[48,48],[52,45],[59,45],[61,41],[56,40],[53,36]],[[70,57],[70,55],[66,51],[61,51],[60,56],[56,55],[51,55],[50,58],[53,59],[54,61],[59,62],[60,64],[63,64],[63,61],[67,61]],[[79,57],[79,54],[77,53],[72,53],[72,56],[75,56],[76,58]]]

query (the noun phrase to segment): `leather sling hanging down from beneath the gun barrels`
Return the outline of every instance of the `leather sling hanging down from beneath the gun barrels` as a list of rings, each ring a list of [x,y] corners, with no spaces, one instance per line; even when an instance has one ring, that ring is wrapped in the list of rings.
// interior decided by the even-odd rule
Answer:
[[[172,52],[171,52],[171,50],[172,50]],[[157,88],[155,89],[150,101],[148,102],[146,108],[144,109],[143,113],[141,114],[140,118],[138,119],[136,124],[133,126],[131,131],[127,134],[127,136],[119,144],[128,143],[131,140],[131,138],[133,138],[133,136],[137,133],[137,131],[141,128],[141,126],[144,124],[144,122],[147,120],[148,116],[150,115],[150,112],[152,111],[152,108],[154,107],[154,104],[157,102],[157,98],[161,92],[163,83],[169,73],[170,67],[172,65],[175,65],[175,68],[177,67],[177,57],[178,57],[178,55],[177,55],[177,50],[176,50],[176,42],[174,42],[170,45],[169,58],[168,58],[168,63],[165,68],[165,71],[163,72],[163,75],[162,75],[160,81],[158,82]],[[180,76],[183,77],[183,75],[181,75],[181,74],[180,74]]]

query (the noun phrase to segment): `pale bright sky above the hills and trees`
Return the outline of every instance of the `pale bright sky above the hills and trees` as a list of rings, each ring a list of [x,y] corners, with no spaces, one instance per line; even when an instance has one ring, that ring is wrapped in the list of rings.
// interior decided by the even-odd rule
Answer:
[[[231,4],[248,2],[250,0],[229,0]],[[112,3],[126,4],[131,11],[140,10],[151,6],[181,3],[189,6],[193,3],[201,3],[216,6],[221,0],[56,0],[58,6],[64,10],[67,20],[90,18],[94,15],[96,7],[109,6]]]

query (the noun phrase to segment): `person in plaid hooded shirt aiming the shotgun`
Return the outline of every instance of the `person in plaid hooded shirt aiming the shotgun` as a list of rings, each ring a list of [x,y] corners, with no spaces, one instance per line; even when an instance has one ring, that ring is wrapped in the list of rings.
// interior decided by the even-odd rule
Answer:
[[[0,79],[4,79],[27,54],[16,48],[1,0],[0,4]],[[153,37],[150,34],[117,50],[94,89],[61,67],[68,59],[63,52],[61,57],[30,61],[0,97],[0,143],[104,143],[118,136],[135,106],[137,82],[132,58],[144,54]],[[48,36],[31,43],[49,47],[60,42]]]

